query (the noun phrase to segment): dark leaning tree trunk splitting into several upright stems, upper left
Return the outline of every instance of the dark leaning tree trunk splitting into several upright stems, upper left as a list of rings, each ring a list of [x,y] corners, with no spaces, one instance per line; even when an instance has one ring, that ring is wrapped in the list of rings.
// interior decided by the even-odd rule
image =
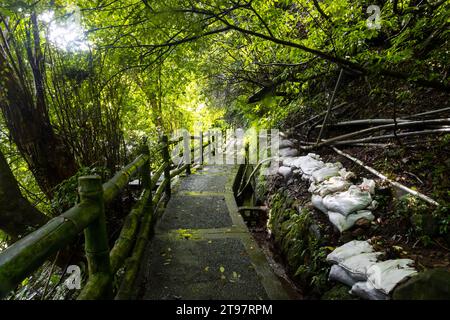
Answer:
[[[45,67],[40,48],[36,15],[31,15],[31,30],[25,28],[25,51],[28,68],[23,59],[14,58],[10,45],[2,34],[0,43],[0,109],[11,137],[27,162],[42,191],[52,197],[53,188],[77,171],[70,149],[54,132],[50,123],[45,97]],[[9,28],[7,28],[9,31]],[[3,30],[0,31],[3,32]],[[9,39],[14,39],[8,33]],[[17,53],[17,52],[16,52]],[[20,56],[20,52],[16,54]],[[31,74],[25,70],[31,70]]]

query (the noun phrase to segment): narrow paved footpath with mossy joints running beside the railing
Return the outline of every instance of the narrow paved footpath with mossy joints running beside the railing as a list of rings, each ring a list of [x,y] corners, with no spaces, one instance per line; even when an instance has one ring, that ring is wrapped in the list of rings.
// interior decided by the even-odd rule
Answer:
[[[181,178],[146,250],[140,299],[289,299],[233,195],[237,166]]]

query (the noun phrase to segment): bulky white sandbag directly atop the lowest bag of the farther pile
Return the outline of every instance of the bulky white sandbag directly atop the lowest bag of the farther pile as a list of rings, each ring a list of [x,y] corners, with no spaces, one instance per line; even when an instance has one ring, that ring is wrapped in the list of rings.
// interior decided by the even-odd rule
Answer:
[[[361,191],[357,186],[350,186],[345,192],[327,195],[323,198],[323,205],[329,211],[339,212],[345,216],[352,212],[366,208],[372,202],[367,191]]]

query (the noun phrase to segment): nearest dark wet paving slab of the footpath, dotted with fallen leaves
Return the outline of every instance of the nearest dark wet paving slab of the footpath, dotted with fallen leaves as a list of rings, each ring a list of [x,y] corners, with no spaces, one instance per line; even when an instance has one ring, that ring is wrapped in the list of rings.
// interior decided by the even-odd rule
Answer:
[[[268,299],[239,239],[156,238],[147,254],[144,299]]]

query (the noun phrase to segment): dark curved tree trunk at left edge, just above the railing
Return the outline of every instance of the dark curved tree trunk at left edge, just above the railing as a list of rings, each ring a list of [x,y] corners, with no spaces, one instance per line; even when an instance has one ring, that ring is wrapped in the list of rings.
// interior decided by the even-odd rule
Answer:
[[[0,152],[0,229],[15,241],[47,220],[44,214],[22,196],[17,181]]]

